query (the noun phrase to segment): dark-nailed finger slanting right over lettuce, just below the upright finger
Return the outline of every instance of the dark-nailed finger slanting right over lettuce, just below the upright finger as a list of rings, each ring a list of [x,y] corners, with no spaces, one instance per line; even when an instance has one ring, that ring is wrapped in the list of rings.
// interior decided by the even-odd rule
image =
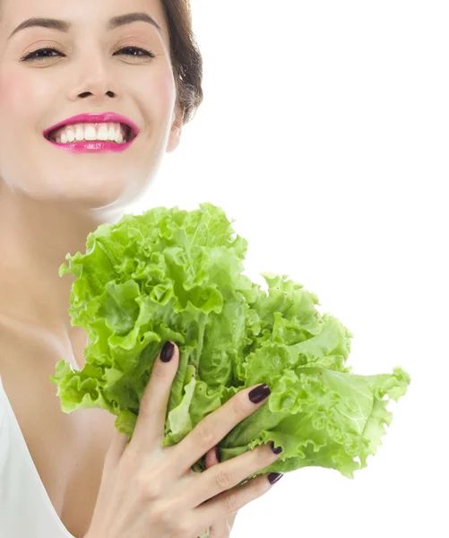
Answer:
[[[244,388],[237,395],[232,396],[226,404],[219,407],[214,412],[209,413],[200,421],[194,430],[190,431],[177,445],[174,445],[175,455],[173,461],[176,468],[174,471],[178,474],[184,473],[186,468],[198,461],[206,452],[217,445],[230,430],[237,424],[266,403],[267,397],[256,404],[249,399],[250,393],[257,388],[257,393],[261,392],[263,385],[250,386]],[[266,385],[265,385],[266,387]],[[268,389],[268,387],[266,387]],[[269,389],[268,389],[269,390]],[[256,393],[256,394],[257,394]]]

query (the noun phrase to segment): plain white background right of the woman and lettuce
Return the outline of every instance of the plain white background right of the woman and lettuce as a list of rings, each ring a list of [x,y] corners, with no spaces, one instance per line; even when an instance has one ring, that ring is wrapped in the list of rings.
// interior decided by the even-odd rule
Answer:
[[[287,473],[233,538],[449,536],[448,17],[426,0],[193,0],[204,101],[133,208],[209,201],[409,392],[353,481]]]

